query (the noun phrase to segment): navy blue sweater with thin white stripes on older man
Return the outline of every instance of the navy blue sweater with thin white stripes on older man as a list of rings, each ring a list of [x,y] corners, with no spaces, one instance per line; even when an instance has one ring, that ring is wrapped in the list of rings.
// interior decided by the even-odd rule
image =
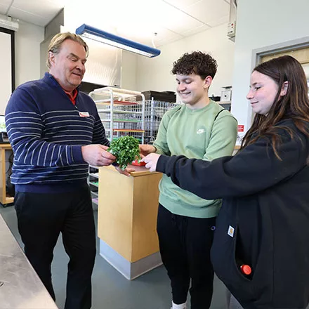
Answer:
[[[22,192],[76,190],[88,176],[81,146],[109,145],[93,100],[79,91],[73,105],[49,73],[12,93],[6,129],[14,152],[11,182]]]

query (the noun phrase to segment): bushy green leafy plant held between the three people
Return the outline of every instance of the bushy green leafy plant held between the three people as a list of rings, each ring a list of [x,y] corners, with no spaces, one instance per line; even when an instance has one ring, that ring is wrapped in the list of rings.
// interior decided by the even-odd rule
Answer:
[[[117,158],[116,162],[122,170],[136,158],[140,159],[138,140],[133,136],[121,136],[112,140],[107,151]]]

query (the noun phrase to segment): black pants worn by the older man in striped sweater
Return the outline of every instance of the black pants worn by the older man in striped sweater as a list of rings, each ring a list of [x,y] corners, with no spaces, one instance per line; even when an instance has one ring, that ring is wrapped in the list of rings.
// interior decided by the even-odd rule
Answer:
[[[14,202],[25,254],[53,299],[51,262],[61,232],[70,256],[65,309],[91,308],[96,232],[88,186],[70,193],[16,192]]]

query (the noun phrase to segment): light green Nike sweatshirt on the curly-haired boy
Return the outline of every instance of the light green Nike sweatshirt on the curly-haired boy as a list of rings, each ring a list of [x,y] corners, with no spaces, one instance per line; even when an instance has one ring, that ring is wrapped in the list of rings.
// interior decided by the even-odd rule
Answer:
[[[211,161],[232,155],[236,138],[236,119],[211,100],[199,110],[180,105],[166,112],[153,145],[158,154]],[[221,206],[221,199],[201,199],[173,184],[165,174],[159,183],[159,191],[159,203],[181,216],[212,218],[217,216]]]

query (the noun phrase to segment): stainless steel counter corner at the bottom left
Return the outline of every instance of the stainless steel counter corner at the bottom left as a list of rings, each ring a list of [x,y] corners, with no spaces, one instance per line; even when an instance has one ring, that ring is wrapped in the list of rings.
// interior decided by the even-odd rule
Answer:
[[[3,284],[2,284],[3,283]],[[2,284],[2,285],[1,285]],[[0,215],[0,308],[57,309]]]

